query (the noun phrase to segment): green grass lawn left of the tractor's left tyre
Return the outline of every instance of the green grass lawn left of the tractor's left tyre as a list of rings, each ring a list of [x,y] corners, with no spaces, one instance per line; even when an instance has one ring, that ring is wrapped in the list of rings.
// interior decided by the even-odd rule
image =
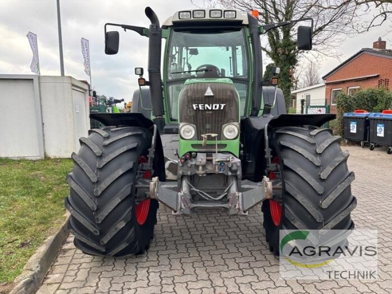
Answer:
[[[0,159],[0,288],[65,220],[72,167],[71,159]]]

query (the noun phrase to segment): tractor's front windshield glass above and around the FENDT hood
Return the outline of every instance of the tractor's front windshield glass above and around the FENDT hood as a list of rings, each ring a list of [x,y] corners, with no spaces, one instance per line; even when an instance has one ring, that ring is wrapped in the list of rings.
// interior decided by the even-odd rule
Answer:
[[[178,118],[178,95],[188,78],[229,77],[244,109],[248,65],[244,29],[224,31],[172,31],[167,55],[169,108]]]

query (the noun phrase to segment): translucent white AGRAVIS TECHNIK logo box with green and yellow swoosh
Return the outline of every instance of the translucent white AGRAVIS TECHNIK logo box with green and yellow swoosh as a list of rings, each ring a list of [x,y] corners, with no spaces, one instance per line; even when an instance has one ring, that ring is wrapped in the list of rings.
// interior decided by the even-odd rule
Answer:
[[[372,279],[377,276],[374,230],[281,230],[279,271],[290,279]]]

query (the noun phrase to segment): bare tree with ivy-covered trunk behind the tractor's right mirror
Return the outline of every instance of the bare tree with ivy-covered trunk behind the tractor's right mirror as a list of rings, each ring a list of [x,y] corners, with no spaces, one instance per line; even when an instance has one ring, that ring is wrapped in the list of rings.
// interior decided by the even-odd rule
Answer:
[[[314,20],[313,46],[316,53],[335,55],[334,48],[349,35],[369,30],[389,20],[391,0],[204,0],[206,6],[231,7],[244,12],[259,11],[261,24],[301,18]],[[293,87],[293,72],[300,52],[295,45],[295,25],[267,32],[262,50],[281,67],[279,86],[286,98]],[[306,54],[302,54],[307,58]]]

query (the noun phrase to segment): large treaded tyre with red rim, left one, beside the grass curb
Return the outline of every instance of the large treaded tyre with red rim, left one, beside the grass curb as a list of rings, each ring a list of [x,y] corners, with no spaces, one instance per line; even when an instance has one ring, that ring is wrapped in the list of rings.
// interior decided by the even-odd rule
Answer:
[[[83,252],[128,256],[148,248],[158,203],[140,202],[135,184],[151,137],[139,127],[104,127],[80,139],[78,154],[72,154],[73,172],[67,176],[71,192],[65,206],[74,245]]]

